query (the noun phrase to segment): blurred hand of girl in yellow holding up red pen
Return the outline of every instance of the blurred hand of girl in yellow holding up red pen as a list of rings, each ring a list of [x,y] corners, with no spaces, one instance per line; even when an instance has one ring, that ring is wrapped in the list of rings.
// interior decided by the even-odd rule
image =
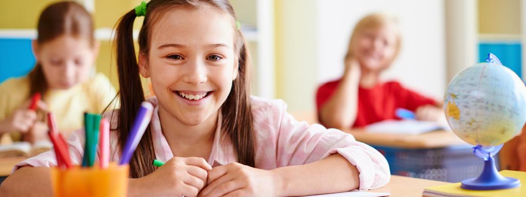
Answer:
[[[29,105],[31,105],[31,100],[24,103],[22,107],[18,108],[15,112],[4,119],[4,121],[2,121],[2,130],[5,132],[28,132],[37,119],[36,112],[28,109]],[[37,107],[40,110],[47,109],[47,105],[43,101],[39,101]]]

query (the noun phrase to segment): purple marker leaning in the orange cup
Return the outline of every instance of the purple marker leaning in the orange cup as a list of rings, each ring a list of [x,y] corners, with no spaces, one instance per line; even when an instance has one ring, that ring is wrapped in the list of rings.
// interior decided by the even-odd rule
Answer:
[[[123,155],[120,157],[119,165],[129,163],[131,155],[133,155],[135,148],[137,148],[139,144],[140,138],[143,137],[146,128],[150,124],[153,110],[154,106],[147,101],[143,101],[143,103],[140,104],[139,112],[137,113],[137,117],[135,117],[135,122],[131,127],[128,139],[126,139],[126,146],[124,147]]]

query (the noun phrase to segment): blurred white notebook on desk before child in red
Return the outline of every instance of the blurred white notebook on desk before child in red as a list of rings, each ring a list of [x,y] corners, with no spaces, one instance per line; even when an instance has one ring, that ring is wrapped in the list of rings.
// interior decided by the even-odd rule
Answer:
[[[437,122],[404,119],[401,121],[387,120],[374,123],[365,127],[365,130],[369,133],[418,135],[422,133],[432,132],[433,130],[449,130],[449,127]]]

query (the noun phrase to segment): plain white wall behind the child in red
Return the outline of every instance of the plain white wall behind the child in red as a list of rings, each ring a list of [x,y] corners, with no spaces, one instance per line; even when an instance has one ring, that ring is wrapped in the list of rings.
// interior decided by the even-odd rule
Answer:
[[[372,12],[397,16],[402,31],[399,57],[382,78],[442,100],[447,85],[443,0],[318,0],[318,83],[341,76],[352,28]]]

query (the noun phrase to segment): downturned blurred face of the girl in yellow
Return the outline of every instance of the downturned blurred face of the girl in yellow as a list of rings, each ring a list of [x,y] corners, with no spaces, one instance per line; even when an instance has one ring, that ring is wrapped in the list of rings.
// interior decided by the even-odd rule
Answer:
[[[87,39],[60,36],[38,45],[33,42],[35,57],[42,65],[49,89],[69,89],[89,76],[98,45]]]

